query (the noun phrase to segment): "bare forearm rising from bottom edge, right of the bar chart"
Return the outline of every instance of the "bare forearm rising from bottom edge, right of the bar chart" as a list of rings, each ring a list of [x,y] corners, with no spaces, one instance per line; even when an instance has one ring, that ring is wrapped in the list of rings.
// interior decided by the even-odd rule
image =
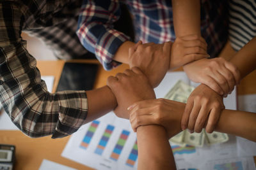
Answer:
[[[164,127],[140,126],[137,129],[137,140],[138,169],[176,169]]]

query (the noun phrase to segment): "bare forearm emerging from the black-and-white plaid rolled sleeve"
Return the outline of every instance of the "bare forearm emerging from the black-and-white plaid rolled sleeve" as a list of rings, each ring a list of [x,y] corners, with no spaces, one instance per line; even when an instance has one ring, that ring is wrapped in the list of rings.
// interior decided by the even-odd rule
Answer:
[[[86,92],[88,99],[88,115],[86,122],[102,117],[116,107],[116,97],[108,86]]]

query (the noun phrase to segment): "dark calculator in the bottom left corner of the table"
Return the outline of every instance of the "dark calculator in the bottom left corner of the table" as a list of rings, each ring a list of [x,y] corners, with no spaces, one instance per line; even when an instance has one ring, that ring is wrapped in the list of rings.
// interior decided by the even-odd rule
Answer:
[[[0,144],[0,170],[13,170],[15,146]]]

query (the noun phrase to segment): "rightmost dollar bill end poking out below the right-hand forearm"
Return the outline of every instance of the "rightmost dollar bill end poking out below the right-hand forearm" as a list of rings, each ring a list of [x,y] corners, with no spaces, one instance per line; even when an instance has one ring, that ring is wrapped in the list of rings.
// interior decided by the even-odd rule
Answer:
[[[212,132],[211,134],[205,132],[205,139],[208,144],[214,144],[214,143],[224,143],[228,141],[228,135],[221,132]]]

